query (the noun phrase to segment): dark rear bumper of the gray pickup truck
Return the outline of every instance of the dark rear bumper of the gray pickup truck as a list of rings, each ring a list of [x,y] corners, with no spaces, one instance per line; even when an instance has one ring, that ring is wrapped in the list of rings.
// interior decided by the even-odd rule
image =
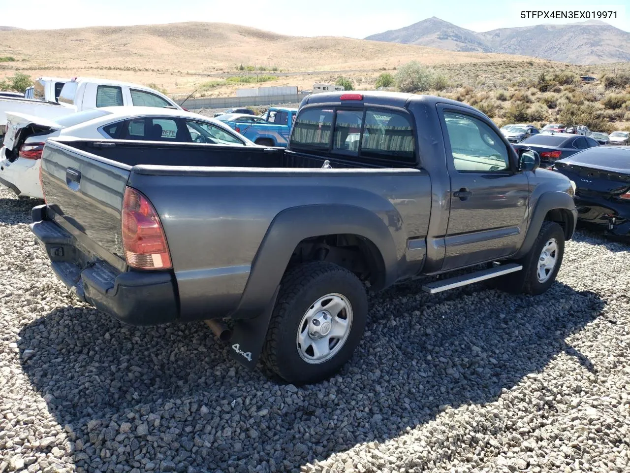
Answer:
[[[31,231],[50,258],[57,277],[82,301],[131,325],[159,325],[179,318],[169,271],[120,272],[103,260],[89,260],[76,238],[46,219],[46,206],[33,207]]]

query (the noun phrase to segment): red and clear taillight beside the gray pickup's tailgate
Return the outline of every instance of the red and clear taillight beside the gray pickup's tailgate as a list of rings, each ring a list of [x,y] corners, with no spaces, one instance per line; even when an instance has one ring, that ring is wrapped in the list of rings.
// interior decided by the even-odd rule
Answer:
[[[131,187],[122,204],[122,245],[127,264],[137,269],[171,269],[162,224],[151,202]]]

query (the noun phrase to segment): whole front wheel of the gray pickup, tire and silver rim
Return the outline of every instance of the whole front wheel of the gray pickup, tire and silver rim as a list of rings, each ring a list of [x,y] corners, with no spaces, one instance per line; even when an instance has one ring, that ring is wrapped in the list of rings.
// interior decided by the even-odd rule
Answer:
[[[510,293],[542,294],[556,280],[563,256],[564,231],[558,223],[546,220],[529,253],[514,261],[523,269],[496,278],[496,286]]]

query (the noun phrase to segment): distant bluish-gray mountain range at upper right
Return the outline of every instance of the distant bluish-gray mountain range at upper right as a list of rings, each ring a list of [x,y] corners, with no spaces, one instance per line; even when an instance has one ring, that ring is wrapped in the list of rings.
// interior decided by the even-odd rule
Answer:
[[[477,33],[433,16],[365,39],[451,51],[529,55],[573,64],[630,61],[630,33],[599,20],[570,25],[500,28]]]

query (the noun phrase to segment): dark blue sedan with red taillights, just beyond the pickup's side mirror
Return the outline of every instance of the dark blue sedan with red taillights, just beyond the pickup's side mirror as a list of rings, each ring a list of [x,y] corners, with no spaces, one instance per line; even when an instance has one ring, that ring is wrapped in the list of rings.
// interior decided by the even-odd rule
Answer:
[[[582,149],[599,146],[599,143],[588,136],[570,133],[537,134],[512,145],[514,149],[532,149],[541,156],[541,165],[549,166],[556,161],[575,155]]]

